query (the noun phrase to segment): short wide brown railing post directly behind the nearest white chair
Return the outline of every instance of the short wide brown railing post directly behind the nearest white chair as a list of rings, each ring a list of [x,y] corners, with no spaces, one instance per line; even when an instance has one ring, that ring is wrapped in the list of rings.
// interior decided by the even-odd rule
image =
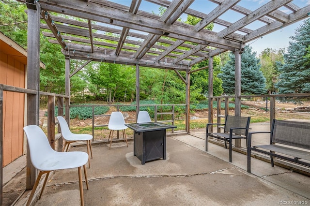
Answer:
[[[55,96],[47,97],[47,139],[55,150]]]

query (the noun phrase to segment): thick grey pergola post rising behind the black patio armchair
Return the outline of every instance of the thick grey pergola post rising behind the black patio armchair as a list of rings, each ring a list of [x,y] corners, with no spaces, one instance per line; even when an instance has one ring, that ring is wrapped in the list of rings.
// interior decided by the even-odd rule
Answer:
[[[239,50],[234,52],[235,56],[235,83],[234,83],[234,115],[241,116],[241,53]],[[241,139],[235,139],[234,141],[235,147],[241,147]]]

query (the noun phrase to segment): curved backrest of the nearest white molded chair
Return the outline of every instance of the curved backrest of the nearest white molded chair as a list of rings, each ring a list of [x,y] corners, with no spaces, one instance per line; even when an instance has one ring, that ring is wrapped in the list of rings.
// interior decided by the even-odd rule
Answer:
[[[24,131],[28,140],[32,165],[40,170],[42,162],[57,152],[50,147],[47,136],[37,125],[28,125],[24,127]]]

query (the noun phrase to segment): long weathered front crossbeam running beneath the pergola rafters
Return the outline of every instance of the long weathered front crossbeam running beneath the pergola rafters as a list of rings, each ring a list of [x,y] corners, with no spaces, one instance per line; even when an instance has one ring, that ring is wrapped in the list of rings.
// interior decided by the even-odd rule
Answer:
[[[43,9],[58,13],[66,13],[80,18],[87,18],[93,21],[109,23],[110,19],[113,19],[113,25],[124,27],[124,23],[126,23],[126,27],[138,29],[143,32],[145,31],[145,28],[150,28],[155,29],[156,33],[157,30],[162,30],[177,35],[179,39],[185,41],[191,40],[198,44],[209,44],[209,42],[214,42],[219,45],[226,45],[234,48],[240,47],[240,44],[236,42],[226,40],[205,30],[200,32],[192,29],[188,30],[186,24],[166,24],[165,22],[147,16],[141,16],[138,14],[134,15],[115,8],[100,6],[102,1],[93,0],[93,2],[88,2],[87,6],[79,0],[65,2],[57,0],[40,0],[40,3]],[[138,27],[133,28],[133,25],[139,25],[140,29]],[[171,37],[175,37],[174,35],[171,35]]]

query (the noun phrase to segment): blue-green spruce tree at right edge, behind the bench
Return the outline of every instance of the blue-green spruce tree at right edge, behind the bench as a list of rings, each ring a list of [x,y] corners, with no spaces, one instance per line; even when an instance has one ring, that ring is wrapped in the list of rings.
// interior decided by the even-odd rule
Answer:
[[[295,30],[293,41],[289,43],[288,53],[284,54],[284,64],[279,68],[279,93],[310,92],[310,19]]]

